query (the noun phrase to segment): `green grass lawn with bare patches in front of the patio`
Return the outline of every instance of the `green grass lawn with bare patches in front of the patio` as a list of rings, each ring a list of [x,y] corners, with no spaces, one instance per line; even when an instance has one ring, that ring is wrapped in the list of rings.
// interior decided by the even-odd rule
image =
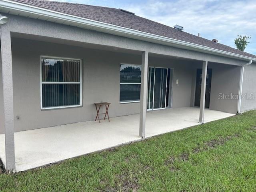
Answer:
[[[0,191],[256,191],[256,111],[0,174]]]

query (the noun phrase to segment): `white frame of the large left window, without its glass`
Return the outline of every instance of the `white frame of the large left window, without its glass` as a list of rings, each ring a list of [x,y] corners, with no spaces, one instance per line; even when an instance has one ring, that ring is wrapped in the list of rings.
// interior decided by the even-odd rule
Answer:
[[[42,82],[42,58],[80,60],[80,82]],[[43,107],[42,84],[80,84],[80,104],[68,105],[68,106]],[[41,110],[81,107],[82,106],[82,59],[41,55],[40,56],[40,97],[41,97]]]

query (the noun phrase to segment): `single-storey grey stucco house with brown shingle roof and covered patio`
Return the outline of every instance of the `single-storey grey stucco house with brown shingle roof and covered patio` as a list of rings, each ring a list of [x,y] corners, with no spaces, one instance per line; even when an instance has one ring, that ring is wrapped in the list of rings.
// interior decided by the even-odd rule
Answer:
[[[219,119],[256,108],[256,56],[188,34],[180,26],[122,9],[46,0],[0,0],[0,13],[0,156],[7,171],[31,168],[17,169],[17,161],[32,155],[26,150],[31,147],[44,149],[33,153],[41,161],[47,156],[40,156],[43,151],[49,162],[56,161],[50,156],[63,149],[54,148],[62,146],[54,140],[69,142],[66,153],[72,152],[68,146],[81,144],[76,142],[82,135],[72,123],[94,120],[96,102],[111,103],[112,119],[90,122],[90,132],[80,129],[84,136],[98,136],[92,138],[95,146],[113,140],[112,126],[134,128],[138,134],[132,136],[144,138],[162,125],[164,131],[151,135],[171,131],[172,125],[214,120],[214,112]],[[69,124],[67,138],[51,128],[64,124]],[[32,134],[39,128],[47,129]],[[68,155],[63,159],[78,154]],[[41,161],[36,165],[46,164]]]

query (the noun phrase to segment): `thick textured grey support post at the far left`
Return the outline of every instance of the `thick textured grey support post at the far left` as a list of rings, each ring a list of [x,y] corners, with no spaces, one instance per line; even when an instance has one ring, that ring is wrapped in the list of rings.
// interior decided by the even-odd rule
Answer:
[[[0,26],[0,39],[4,96],[5,167],[7,172],[15,172],[12,46],[10,30],[6,24]]]

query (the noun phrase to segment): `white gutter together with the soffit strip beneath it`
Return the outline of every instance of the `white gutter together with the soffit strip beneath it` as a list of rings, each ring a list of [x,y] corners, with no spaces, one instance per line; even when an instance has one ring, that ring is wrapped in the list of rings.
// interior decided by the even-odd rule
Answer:
[[[159,36],[155,34],[149,34],[146,32],[141,32],[138,30],[133,30],[130,28],[124,28],[120,26],[115,26],[112,24],[107,24],[103,22],[98,22],[86,18],[80,18],[77,16],[72,16],[44,8],[39,8],[36,6],[30,6],[27,4],[22,4],[18,2],[13,2],[10,0],[0,0],[0,12],[24,16],[27,18],[34,18],[39,20],[45,20],[50,22],[55,22],[59,24],[65,24],[70,26],[76,26],[79,28],[95,30],[98,32],[104,32],[108,34],[114,34],[118,36],[133,38],[137,40],[143,40],[147,42],[154,42],[157,44],[173,46],[177,48],[183,48],[187,50],[194,50],[198,52],[204,52],[208,54],[214,54],[229,58],[236,58],[239,60],[253,60],[256,62],[256,58],[251,58],[248,56],[243,56],[231,52],[226,52],[214,48],[209,48],[207,46],[202,46],[194,43],[184,42],[181,40],[176,40],[164,36]]]

